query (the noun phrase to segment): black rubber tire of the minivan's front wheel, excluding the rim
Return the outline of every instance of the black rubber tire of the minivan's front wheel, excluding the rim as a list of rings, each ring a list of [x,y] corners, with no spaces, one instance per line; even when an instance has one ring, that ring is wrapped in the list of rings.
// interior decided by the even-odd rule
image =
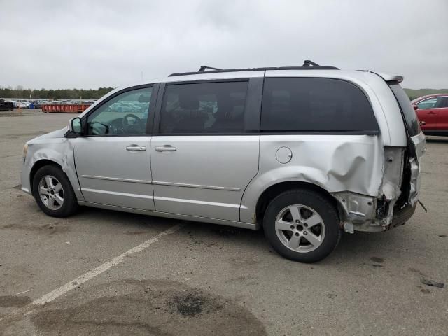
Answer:
[[[41,200],[41,196],[39,195],[39,183],[41,183],[41,179],[44,176],[54,176],[62,185],[62,192],[64,195],[64,202],[59,209],[50,209],[47,205],[43,203]],[[78,200],[76,199],[76,195],[73,192],[73,188],[71,187],[71,183],[67,178],[66,174],[62,172],[62,169],[55,165],[47,165],[38,169],[36,174],[34,174],[33,178],[33,196],[36,200],[38,206],[41,210],[52,217],[68,217],[74,214],[78,210]]]

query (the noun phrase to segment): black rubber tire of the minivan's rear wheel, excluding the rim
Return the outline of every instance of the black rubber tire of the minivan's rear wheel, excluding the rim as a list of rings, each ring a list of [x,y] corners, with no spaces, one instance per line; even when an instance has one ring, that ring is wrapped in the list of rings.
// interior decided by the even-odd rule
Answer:
[[[320,216],[322,219],[321,224],[316,225],[316,229],[323,230],[322,226],[325,227],[323,231],[323,239],[321,239],[321,243],[319,243],[320,246],[316,247],[313,251],[297,252],[293,251],[293,249],[291,248],[288,248],[288,246],[286,246],[286,243],[282,242],[281,238],[279,237],[279,235],[283,234],[287,239],[287,235],[289,235],[288,230],[279,231],[279,235],[277,235],[275,224],[277,216],[281,216],[281,211],[294,204],[300,204],[305,207],[309,207],[310,209],[314,210],[315,213],[318,214],[318,216]],[[308,210],[305,209],[304,211]],[[311,211],[309,213],[311,214]],[[303,221],[306,221],[306,219],[303,219]],[[288,221],[287,223],[289,224]],[[290,222],[290,224],[291,228],[296,225],[294,221]],[[307,224],[304,225],[308,226]],[[299,227],[304,231],[310,229],[303,228],[303,226],[301,225],[297,225],[294,230],[300,230]],[[265,216],[263,218],[263,228],[265,230],[265,235],[269,243],[277,253],[285,258],[298,262],[316,262],[322,260],[335,250],[342,235],[342,231],[339,229],[339,218],[337,216],[335,206],[327,199],[327,197],[321,195],[320,193],[317,193],[313,190],[302,189],[289,190],[275,197],[274,200],[269,203],[265,211]],[[290,232],[290,234],[291,239],[293,235],[299,235],[297,231],[296,233]],[[302,236],[298,238],[299,241],[302,241],[303,244],[310,244],[306,238],[311,237],[311,235],[305,235],[308,236]],[[307,248],[307,246],[304,247]],[[314,246],[312,246],[311,244],[309,245],[309,247],[314,248]]]

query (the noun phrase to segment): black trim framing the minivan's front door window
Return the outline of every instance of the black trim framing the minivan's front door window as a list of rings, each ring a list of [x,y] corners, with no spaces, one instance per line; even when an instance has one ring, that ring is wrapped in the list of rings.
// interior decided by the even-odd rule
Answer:
[[[157,106],[156,100],[153,100],[153,97],[158,97],[158,90],[160,87],[160,83],[151,83],[151,84],[143,84],[143,85],[134,85],[131,87],[126,87],[123,90],[117,91],[114,94],[111,94],[111,96],[104,99],[102,102],[100,102],[97,106],[94,106],[94,109],[90,110],[88,113],[85,114],[81,118],[81,125],[83,127],[83,137],[85,138],[97,138],[97,137],[148,137],[151,136],[151,131],[153,130],[153,123],[154,123],[154,115],[155,113],[150,113],[148,111],[148,120],[146,122],[146,130],[144,134],[88,134],[87,133],[87,118],[97,111],[101,106],[106,104],[107,102],[111,101],[111,99],[117,97],[120,94],[123,94],[125,92],[130,92],[134,90],[140,90],[140,89],[146,89],[148,87],[153,88],[153,92],[151,92],[151,100],[155,102],[155,106]],[[149,109],[151,109],[151,103],[150,106],[148,106]],[[154,111],[154,110],[153,110]]]

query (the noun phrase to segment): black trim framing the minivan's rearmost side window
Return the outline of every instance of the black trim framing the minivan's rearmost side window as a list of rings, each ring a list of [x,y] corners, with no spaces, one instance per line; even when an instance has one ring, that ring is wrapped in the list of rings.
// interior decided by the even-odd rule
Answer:
[[[308,76],[291,76],[291,77],[286,77],[286,76],[269,76],[266,77],[265,79],[269,79],[269,78],[314,78],[314,79],[331,79],[331,80],[340,80],[342,82],[345,83],[349,83],[355,87],[358,88],[358,90],[360,90],[360,92],[363,92],[363,95],[365,97],[365,99],[367,99],[367,102],[369,103],[370,109],[372,109],[372,113],[374,116],[374,120],[375,120],[375,124],[377,125],[377,130],[300,130],[300,131],[294,131],[294,130],[261,130],[261,118],[262,118],[262,108],[260,109],[260,134],[261,135],[280,135],[280,134],[284,134],[284,135],[302,135],[302,134],[308,134],[308,135],[319,135],[319,134],[325,134],[325,135],[371,135],[371,136],[375,136],[375,135],[379,135],[380,134],[380,130],[379,130],[379,125],[378,125],[378,120],[377,120],[377,116],[374,113],[374,109],[372,106],[372,102],[370,102],[370,97],[368,96],[368,94],[366,94],[366,92],[363,90],[362,87],[360,87],[359,85],[357,85],[356,83],[351,82],[350,80],[346,80],[346,79],[342,79],[342,78],[334,78],[334,77],[320,77],[320,76],[316,76],[316,77],[308,77]],[[263,96],[264,97],[264,90],[265,85],[263,84]]]

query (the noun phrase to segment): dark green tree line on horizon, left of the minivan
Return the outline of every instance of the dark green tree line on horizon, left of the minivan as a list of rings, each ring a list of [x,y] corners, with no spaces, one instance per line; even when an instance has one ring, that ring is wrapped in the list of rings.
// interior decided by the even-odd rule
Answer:
[[[57,89],[57,90],[31,90],[24,89],[22,86],[1,87],[0,98],[17,98],[17,99],[99,99],[104,94],[113,90],[113,87],[99,87],[97,90],[84,89]]]

